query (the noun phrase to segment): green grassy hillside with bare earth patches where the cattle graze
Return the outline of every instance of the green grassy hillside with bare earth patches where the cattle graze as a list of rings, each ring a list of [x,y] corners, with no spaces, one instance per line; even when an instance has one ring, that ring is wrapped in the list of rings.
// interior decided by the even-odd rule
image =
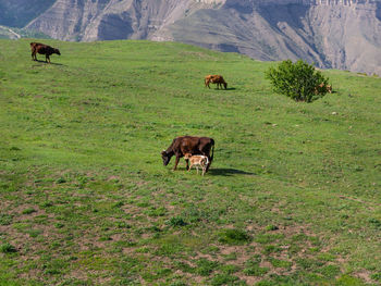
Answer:
[[[306,104],[235,53],[29,41],[0,40],[0,285],[381,283],[380,78]],[[186,134],[205,177],[162,165]]]

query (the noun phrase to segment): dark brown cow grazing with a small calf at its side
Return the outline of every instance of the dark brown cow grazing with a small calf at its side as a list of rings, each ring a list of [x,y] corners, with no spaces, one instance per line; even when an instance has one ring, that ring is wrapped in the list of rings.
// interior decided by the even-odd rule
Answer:
[[[210,156],[211,151],[211,156]],[[214,140],[209,137],[194,137],[182,136],[174,138],[171,146],[167,150],[161,152],[162,163],[167,166],[173,156],[176,157],[173,171],[176,170],[180,158],[186,153],[190,154],[204,154],[208,158],[208,165],[206,172],[208,172],[211,162],[213,161],[214,153]],[[186,161],[186,170],[189,169],[189,161]]]

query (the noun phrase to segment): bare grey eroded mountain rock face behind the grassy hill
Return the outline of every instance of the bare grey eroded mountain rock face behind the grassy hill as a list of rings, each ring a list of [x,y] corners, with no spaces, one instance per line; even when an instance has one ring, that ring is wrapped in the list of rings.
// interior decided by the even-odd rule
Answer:
[[[374,0],[45,1],[47,10],[26,27],[57,39],[176,40],[381,75],[381,2]],[[25,0],[0,0],[0,8],[7,2]],[[0,14],[8,24],[2,21]]]

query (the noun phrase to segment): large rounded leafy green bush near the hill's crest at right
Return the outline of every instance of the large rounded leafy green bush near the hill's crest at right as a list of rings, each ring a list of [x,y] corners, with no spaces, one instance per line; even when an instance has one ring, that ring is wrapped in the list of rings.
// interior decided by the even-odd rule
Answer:
[[[312,102],[328,92],[328,78],[315,66],[298,60],[281,62],[266,72],[276,94],[287,96],[295,101]]]

